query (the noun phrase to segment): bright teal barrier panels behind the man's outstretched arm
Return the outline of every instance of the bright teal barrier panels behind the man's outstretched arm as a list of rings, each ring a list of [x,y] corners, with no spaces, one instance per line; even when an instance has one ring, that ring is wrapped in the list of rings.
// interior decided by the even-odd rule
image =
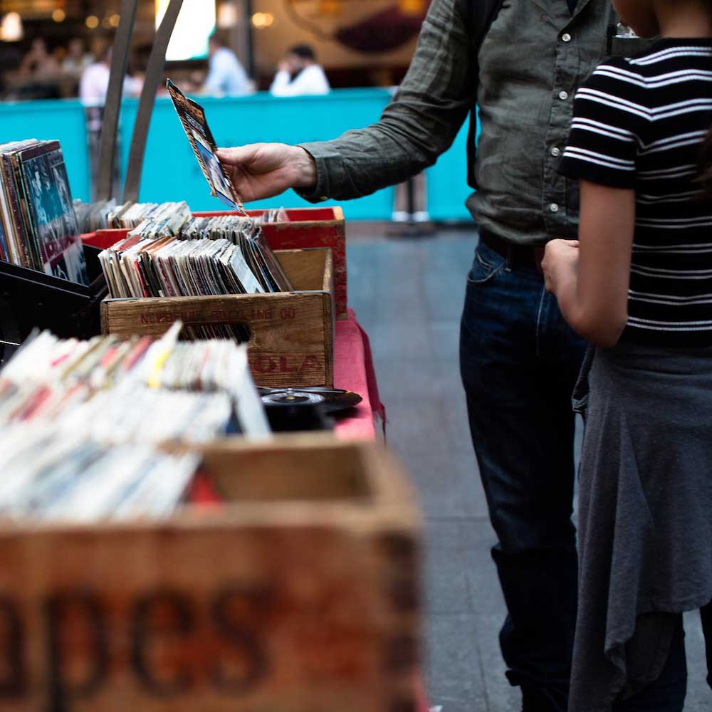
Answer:
[[[388,103],[381,89],[335,90],[325,97],[273,98],[257,94],[245,98],[201,98],[219,145],[236,146],[260,141],[298,143],[337,137],[350,128],[377,121]],[[125,172],[137,100],[125,100],[120,120],[120,166]],[[0,105],[0,141],[20,138],[61,141],[74,197],[89,198],[89,165],[84,110],[73,100],[36,101]],[[466,130],[452,149],[428,170],[429,211],[437,220],[469,219],[465,165]],[[389,219],[393,189],[343,203],[347,219]],[[156,101],[148,137],[141,200],[185,199],[194,210],[219,210],[168,99]],[[328,203],[332,204],[332,203]],[[306,203],[288,192],[250,207],[299,207]]]

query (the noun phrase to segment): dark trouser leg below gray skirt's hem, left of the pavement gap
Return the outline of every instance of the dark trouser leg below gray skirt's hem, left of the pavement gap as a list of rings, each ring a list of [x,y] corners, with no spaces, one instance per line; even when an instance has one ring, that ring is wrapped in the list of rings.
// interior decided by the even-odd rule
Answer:
[[[712,632],[712,631],[711,631]],[[676,616],[670,651],[658,679],[614,704],[614,712],[682,712],[687,693],[687,659],[682,614]]]

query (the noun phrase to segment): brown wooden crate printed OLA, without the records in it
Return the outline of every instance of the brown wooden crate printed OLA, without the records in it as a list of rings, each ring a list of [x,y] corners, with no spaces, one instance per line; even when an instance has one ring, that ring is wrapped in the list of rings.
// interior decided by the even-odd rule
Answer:
[[[105,334],[159,336],[172,323],[246,325],[258,385],[333,386],[333,273],[328,249],[276,252],[296,291],[260,295],[107,299]]]

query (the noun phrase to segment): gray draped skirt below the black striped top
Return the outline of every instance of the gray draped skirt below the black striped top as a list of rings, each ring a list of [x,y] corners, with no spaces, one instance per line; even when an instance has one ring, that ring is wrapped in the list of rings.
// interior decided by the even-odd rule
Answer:
[[[656,679],[670,614],[712,600],[712,348],[587,355],[570,712]]]

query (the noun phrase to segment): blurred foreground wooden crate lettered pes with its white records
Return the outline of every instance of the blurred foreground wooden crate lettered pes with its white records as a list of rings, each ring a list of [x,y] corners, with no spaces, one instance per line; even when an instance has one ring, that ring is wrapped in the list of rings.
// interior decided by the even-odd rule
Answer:
[[[235,416],[263,431],[244,346],[177,327],[43,333],[0,372],[3,712],[413,708],[401,469],[328,436],[220,439]]]

